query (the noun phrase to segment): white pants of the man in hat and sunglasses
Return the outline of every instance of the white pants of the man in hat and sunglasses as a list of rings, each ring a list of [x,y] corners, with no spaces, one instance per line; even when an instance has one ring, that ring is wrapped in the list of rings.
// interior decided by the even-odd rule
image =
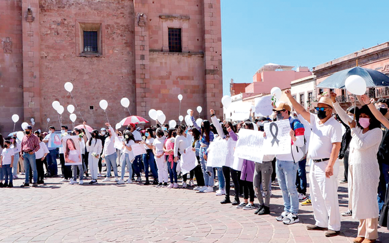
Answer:
[[[329,160],[311,165],[309,175],[311,186],[311,201],[316,226],[330,230],[340,230],[340,212],[338,201],[339,161],[334,164],[334,175],[325,177],[325,167]]]

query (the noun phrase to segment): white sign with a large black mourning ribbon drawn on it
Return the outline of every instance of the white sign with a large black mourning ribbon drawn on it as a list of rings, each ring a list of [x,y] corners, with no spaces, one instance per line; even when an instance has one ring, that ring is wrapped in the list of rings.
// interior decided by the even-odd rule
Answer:
[[[264,154],[290,154],[289,119],[265,123],[263,128],[266,133]]]

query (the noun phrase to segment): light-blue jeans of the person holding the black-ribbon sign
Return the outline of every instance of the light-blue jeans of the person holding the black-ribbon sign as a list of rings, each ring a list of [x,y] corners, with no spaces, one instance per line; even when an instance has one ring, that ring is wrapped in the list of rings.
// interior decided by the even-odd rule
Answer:
[[[293,214],[298,213],[297,167],[297,164],[293,161],[277,159],[276,171],[282,198],[284,199],[284,211]]]

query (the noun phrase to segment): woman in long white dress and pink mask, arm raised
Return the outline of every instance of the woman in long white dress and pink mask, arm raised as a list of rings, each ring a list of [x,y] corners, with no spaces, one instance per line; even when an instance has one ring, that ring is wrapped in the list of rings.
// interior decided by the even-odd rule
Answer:
[[[336,94],[332,93],[331,99],[340,119],[351,128],[348,191],[352,217],[360,220],[358,235],[353,242],[375,242],[378,238],[377,188],[380,172],[377,152],[382,138],[381,124],[362,101],[364,106],[356,112],[355,123],[336,101]]]

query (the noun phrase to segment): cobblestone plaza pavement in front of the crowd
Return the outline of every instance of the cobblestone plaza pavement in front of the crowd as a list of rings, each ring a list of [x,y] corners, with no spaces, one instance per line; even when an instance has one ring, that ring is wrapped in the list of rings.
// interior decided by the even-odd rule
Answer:
[[[277,222],[283,203],[276,185],[271,215],[258,216],[220,204],[223,196],[215,193],[59,180],[47,179],[39,188],[0,188],[0,242],[352,242],[357,232],[351,217],[342,217],[340,236],[307,231],[306,224],[314,223],[312,206],[300,207],[300,223]],[[347,210],[347,184],[340,185],[339,200],[341,211]],[[379,237],[389,242],[389,231],[379,228]]]

